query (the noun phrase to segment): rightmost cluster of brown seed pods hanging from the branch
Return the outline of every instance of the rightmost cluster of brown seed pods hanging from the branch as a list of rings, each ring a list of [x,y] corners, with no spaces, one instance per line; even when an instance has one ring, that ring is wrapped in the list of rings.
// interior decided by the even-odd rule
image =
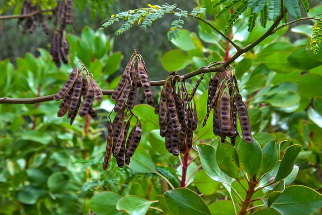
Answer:
[[[237,85],[235,75],[226,71],[210,75],[207,114],[201,127],[206,125],[210,111],[213,109],[213,133],[221,137],[224,144],[226,137],[230,138],[232,145],[235,145],[237,131],[237,113],[239,116],[241,132],[246,143],[253,141],[250,118],[248,111]]]

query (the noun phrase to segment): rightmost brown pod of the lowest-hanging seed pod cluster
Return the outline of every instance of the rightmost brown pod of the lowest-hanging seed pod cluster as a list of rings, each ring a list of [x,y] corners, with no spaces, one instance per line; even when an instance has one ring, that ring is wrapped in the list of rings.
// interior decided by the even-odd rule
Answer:
[[[134,132],[132,133],[132,131]],[[142,136],[142,126],[140,121],[137,121],[136,126],[132,129],[129,138],[126,142],[126,153],[125,153],[125,164],[129,165],[130,163],[130,158],[133,156],[136,148],[138,147],[141,136]]]

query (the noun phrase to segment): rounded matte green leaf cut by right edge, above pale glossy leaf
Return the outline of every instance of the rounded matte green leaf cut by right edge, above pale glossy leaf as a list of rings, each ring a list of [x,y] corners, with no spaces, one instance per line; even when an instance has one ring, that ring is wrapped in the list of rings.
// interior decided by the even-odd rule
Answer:
[[[298,80],[298,91],[309,98],[322,96],[322,76],[318,74],[304,74]],[[313,90],[312,90],[313,89]]]

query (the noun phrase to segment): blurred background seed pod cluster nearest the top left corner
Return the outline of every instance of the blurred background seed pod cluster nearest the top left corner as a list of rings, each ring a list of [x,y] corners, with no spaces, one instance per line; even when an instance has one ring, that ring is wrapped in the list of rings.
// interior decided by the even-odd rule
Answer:
[[[20,15],[28,15],[38,10],[41,10],[39,5],[33,6],[29,0],[25,0],[21,9]],[[26,18],[19,18],[17,21],[17,25],[19,26],[24,20],[25,20],[25,23],[22,29],[23,34],[25,34],[27,30],[29,30],[30,33],[33,33],[36,29],[37,20],[38,20],[39,23],[41,24],[43,32],[49,35],[49,29],[45,23],[44,15],[42,13],[38,13]]]

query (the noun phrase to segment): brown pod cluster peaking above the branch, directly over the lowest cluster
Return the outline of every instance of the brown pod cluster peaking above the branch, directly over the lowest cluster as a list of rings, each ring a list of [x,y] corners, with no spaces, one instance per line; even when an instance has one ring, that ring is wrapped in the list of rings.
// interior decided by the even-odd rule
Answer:
[[[150,85],[150,78],[145,67],[145,63],[142,56],[134,51],[125,67],[116,89],[111,95],[111,100],[116,101],[114,107],[115,112],[120,112],[125,104],[128,111],[133,109],[136,99],[136,90],[139,84],[138,79],[143,88],[143,94],[140,102],[143,103],[146,99],[148,104],[152,104],[154,100]]]

